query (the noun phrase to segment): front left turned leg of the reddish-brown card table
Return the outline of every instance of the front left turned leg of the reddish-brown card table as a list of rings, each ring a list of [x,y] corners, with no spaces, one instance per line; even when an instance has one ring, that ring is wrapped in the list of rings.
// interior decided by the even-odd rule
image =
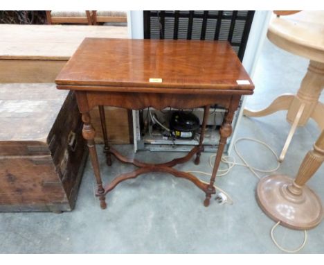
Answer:
[[[93,166],[93,171],[96,176],[97,191],[98,191],[98,194],[102,194],[102,196],[100,196],[100,207],[102,209],[105,209],[107,207],[106,202],[105,202],[105,189],[102,187],[102,180],[100,177],[98,156],[97,156],[97,151],[96,151],[96,145],[94,142],[94,137],[96,135],[96,131],[93,129],[93,126],[91,126],[89,112],[82,113],[82,121],[84,123],[83,129],[82,129],[82,136],[84,137],[84,139],[87,140],[87,145],[89,147],[91,164]]]

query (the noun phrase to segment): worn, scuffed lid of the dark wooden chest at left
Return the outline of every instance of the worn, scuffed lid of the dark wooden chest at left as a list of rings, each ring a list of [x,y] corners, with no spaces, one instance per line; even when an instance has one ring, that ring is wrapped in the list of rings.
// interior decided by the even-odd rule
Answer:
[[[67,94],[53,84],[1,84],[0,155],[49,153],[48,134]]]

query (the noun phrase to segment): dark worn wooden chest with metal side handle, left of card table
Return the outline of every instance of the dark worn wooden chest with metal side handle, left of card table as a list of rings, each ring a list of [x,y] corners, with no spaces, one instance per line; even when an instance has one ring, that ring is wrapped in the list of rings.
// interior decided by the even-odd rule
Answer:
[[[73,93],[0,85],[0,212],[70,211],[87,160]]]

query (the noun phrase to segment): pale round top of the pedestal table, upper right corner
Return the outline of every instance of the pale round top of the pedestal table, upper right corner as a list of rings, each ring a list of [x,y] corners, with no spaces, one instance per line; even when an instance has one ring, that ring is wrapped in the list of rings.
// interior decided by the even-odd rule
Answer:
[[[267,37],[281,49],[324,63],[324,11],[274,15]]]

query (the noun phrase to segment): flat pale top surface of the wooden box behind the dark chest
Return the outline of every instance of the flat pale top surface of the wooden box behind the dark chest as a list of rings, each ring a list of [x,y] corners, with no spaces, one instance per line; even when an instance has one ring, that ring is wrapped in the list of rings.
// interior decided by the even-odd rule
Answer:
[[[127,27],[0,25],[0,59],[69,60],[84,37],[127,38]]]

